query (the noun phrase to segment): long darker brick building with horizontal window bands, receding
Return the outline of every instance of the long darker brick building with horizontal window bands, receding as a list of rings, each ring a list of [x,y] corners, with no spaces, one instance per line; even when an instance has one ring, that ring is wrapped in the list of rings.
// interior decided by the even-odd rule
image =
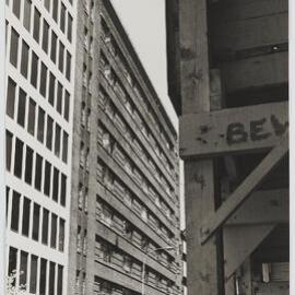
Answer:
[[[177,134],[109,1],[78,1],[68,294],[179,294]]]

